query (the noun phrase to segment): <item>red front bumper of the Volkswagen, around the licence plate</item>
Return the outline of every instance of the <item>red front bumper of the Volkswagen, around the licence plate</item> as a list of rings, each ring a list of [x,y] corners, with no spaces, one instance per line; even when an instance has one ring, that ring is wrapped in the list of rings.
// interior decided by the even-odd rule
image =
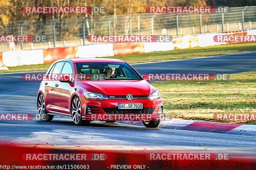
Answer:
[[[150,99],[108,99],[108,100],[87,100],[84,96],[80,96],[82,103],[82,118],[90,121],[140,121],[149,120],[155,121],[163,118],[163,104],[161,99],[150,100]],[[132,109],[129,109],[129,114],[115,114],[106,113],[104,108],[114,108],[118,110],[118,103],[143,103],[143,108],[150,108],[149,113],[138,112],[138,109],[132,113]],[[152,109],[153,108],[153,109]],[[104,111],[105,110],[105,111]],[[152,111],[153,110],[153,111]],[[120,109],[122,111],[122,109]],[[90,114],[88,114],[90,113]]]

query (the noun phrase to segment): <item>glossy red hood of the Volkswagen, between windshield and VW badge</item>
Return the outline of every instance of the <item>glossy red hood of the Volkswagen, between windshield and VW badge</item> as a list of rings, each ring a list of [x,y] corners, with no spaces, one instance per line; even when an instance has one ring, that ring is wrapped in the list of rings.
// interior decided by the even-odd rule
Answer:
[[[77,83],[85,90],[106,95],[147,95],[156,91],[156,88],[145,80],[87,80]]]

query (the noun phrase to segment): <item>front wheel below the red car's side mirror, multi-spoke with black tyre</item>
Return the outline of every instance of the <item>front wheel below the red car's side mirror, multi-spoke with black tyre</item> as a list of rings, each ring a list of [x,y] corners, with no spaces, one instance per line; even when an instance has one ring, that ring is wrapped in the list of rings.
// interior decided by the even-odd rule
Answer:
[[[73,99],[70,110],[73,122],[76,125],[88,126],[90,124],[89,120],[82,119],[81,102],[77,96]]]

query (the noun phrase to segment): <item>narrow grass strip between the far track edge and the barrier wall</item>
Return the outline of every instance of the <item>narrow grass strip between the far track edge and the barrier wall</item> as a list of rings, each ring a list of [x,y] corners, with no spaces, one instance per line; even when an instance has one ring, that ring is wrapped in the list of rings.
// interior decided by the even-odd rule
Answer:
[[[111,57],[104,57],[104,58],[118,58],[128,63],[144,63],[144,62],[154,62],[154,61],[177,60],[177,59],[185,59],[185,58],[196,58],[196,57],[204,57],[204,56],[212,56],[212,55],[242,53],[242,52],[248,52],[248,51],[256,51],[255,43],[248,42],[248,43],[210,46],[210,47],[203,47],[203,48],[196,47],[196,48],[189,48],[189,49],[160,51],[160,52],[151,52],[151,53],[144,53],[144,54],[132,54],[132,55],[124,55],[124,56],[111,56]],[[0,70],[0,73],[48,70],[50,65],[51,63],[8,67],[9,71]]]

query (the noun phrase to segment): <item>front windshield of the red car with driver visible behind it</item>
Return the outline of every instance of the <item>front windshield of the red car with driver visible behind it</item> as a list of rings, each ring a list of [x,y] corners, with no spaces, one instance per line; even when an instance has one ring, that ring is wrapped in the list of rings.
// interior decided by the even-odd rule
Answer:
[[[127,63],[76,63],[78,74],[103,74],[105,80],[142,80]]]

